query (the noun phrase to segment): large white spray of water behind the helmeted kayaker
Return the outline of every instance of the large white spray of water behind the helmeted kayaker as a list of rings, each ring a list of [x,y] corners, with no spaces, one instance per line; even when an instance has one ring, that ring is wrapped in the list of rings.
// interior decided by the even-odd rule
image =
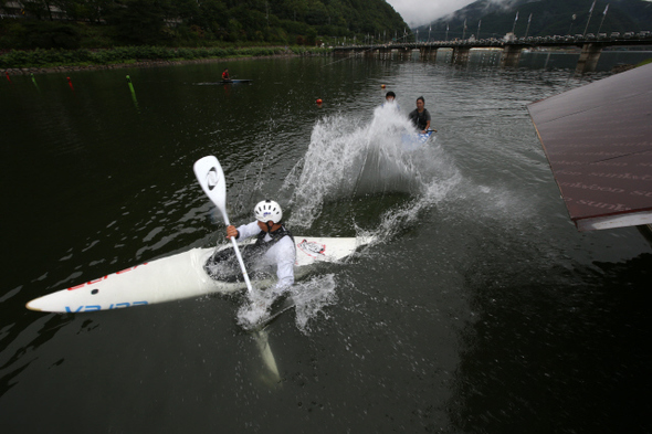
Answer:
[[[318,121],[306,155],[284,183],[294,187],[288,224],[309,227],[328,202],[407,193],[410,203],[382,216],[375,235],[387,237],[444,199],[461,176],[434,139],[418,148],[406,140],[413,131],[393,104],[377,107],[370,120],[337,115]]]

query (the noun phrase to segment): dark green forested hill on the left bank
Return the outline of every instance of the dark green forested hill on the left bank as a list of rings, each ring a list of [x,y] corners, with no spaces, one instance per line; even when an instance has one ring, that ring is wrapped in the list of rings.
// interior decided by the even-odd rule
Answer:
[[[385,0],[0,0],[0,49],[315,45],[403,34]]]

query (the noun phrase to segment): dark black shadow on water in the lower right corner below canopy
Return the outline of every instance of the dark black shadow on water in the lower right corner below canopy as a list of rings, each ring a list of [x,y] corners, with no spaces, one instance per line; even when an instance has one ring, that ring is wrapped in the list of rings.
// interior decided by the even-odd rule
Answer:
[[[646,314],[633,304],[651,301],[651,260],[575,271],[533,264],[541,273],[529,283],[525,266],[470,269],[479,317],[462,334],[454,424],[464,432],[646,431],[648,403],[637,396],[650,385],[652,358],[631,343],[650,338]]]

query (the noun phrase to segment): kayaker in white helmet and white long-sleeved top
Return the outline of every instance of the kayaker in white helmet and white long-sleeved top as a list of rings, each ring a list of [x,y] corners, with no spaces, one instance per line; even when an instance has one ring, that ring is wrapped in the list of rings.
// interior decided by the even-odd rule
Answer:
[[[294,263],[296,261],[294,237],[281,222],[283,211],[278,203],[267,199],[259,202],[253,211],[256,220],[239,227],[228,226],[227,239],[235,237],[238,242],[242,242],[251,236],[256,236],[254,244],[245,245],[242,248],[242,260],[246,268],[254,272],[270,266],[275,267],[278,283],[273,290],[280,295],[294,284]],[[215,252],[204,265],[204,269],[215,279],[225,279],[224,267],[221,266],[224,264],[231,273],[239,269],[238,260],[232,250]]]

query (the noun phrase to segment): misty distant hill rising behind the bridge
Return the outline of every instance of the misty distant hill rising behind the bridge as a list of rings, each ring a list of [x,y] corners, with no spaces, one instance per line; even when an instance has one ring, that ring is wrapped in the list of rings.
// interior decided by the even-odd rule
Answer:
[[[412,31],[419,31],[421,41],[425,41],[429,33],[431,40],[443,40],[446,29],[449,39],[469,38],[471,34],[477,36],[479,24],[480,39],[503,38],[512,29],[517,36],[526,32],[529,36],[576,34],[583,33],[585,29],[588,33],[597,33],[598,30],[606,33],[652,31],[650,1],[596,0],[589,21],[592,4],[593,0],[479,0]],[[515,20],[516,12],[518,20]]]

